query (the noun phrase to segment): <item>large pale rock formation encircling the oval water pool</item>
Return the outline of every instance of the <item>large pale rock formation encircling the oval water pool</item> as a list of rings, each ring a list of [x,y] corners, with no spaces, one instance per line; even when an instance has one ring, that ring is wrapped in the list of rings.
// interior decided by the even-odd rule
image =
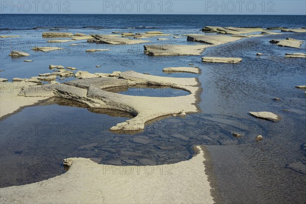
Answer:
[[[89,75],[91,79],[74,80],[65,83],[69,88],[57,89],[57,97],[79,101],[89,107],[114,109],[128,112],[135,117],[111,127],[112,131],[142,131],[147,122],[173,114],[198,112],[197,94],[200,90],[196,78],[170,78],[147,75],[135,71],[116,72],[113,74],[85,73],[78,71],[79,77]],[[76,75],[76,77],[78,77]],[[110,77],[113,76],[113,77]],[[95,77],[97,79],[94,79]],[[84,78],[84,77],[83,77]],[[190,92],[186,96],[149,97],[131,96],[107,91],[106,88],[116,86],[145,85],[167,86]],[[104,90],[105,89],[105,90]]]

